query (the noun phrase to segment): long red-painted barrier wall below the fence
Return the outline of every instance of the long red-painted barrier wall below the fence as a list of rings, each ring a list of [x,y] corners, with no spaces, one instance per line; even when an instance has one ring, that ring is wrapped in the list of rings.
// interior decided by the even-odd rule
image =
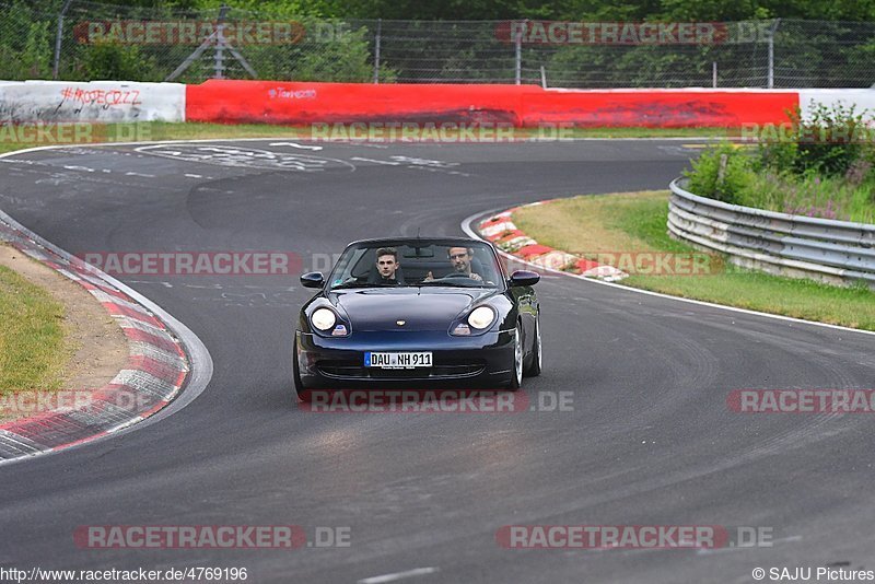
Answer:
[[[189,121],[503,122],[663,128],[786,120],[797,92],[556,91],[536,85],[307,83],[211,80],[186,87]]]

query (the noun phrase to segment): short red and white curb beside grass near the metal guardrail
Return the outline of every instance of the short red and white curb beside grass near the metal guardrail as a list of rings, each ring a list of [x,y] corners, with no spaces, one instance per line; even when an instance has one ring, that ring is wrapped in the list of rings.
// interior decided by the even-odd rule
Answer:
[[[490,215],[477,224],[477,231],[503,252],[529,264],[551,270],[578,273],[584,278],[595,278],[606,282],[622,280],[628,273],[612,266],[606,266],[573,254],[541,245],[522,232],[513,222],[513,213],[523,207],[544,205],[538,201]]]

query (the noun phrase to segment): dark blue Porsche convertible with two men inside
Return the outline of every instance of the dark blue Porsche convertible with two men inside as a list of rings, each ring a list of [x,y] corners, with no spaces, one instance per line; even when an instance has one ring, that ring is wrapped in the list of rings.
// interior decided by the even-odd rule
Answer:
[[[494,248],[470,238],[351,243],[301,309],[298,394],[352,385],[444,384],[517,389],[541,369],[540,277],[510,278]]]

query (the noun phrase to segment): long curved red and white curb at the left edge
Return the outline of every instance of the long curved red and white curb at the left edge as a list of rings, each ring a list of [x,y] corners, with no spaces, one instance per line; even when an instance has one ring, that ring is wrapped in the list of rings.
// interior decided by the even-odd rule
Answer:
[[[91,292],[121,327],[129,348],[127,366],[104,387],[89,390],[88,399],[82,400],[86,405],[0,424],[0,462],[56,452],[113,434],[145,420],[179,394],[190,372],[183,342],[162,317],[131,296],[133,292],[129,294],[122,290],[126,287],[116,285],[112,278],[2,214],[0,240]]]

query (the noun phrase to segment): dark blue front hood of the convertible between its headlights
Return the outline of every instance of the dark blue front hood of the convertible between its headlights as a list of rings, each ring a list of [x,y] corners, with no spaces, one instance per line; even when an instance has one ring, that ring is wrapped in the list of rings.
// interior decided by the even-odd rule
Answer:
[[[332,292],[329,301],[349,317],[352,330],[447,330],[463,311],[494,293],[480,288],[376,288]]]

